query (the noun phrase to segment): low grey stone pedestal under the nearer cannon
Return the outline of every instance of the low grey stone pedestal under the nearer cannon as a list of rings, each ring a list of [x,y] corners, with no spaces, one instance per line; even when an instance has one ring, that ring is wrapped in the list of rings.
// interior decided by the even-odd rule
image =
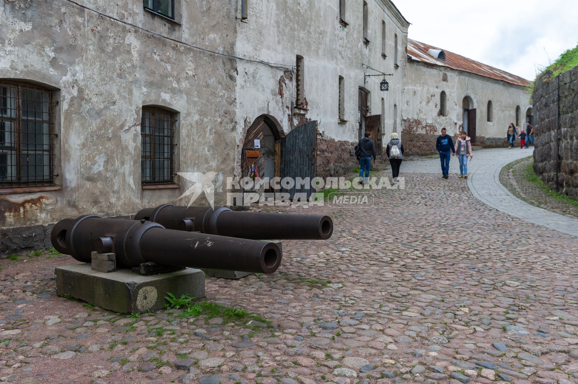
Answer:
[[[143,276],[128,269],[112,273],[93,271],[91,264],[57,267],[54,270],[56,292],[70,295],[113,312],[123,314],[158,311],[166,303],[167,292],[202,300],[205,274],[198,269]]]

